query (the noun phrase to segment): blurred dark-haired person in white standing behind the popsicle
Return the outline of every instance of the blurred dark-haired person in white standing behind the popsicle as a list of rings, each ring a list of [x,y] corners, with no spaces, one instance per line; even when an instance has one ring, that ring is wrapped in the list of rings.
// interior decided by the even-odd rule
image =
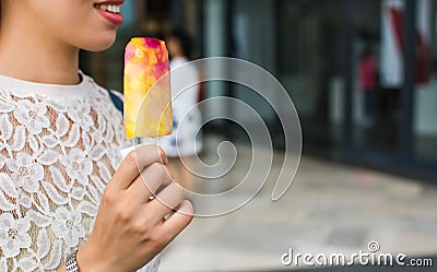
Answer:
[[[160,145],[170,158],[173,174],[187,190],[192,189],[193,176],[190,165],[202,151],[202,116],[196,106],[199,102],[199,84],[185,86],[200,81],[199,70],[190,62],[192,44],[182,31],[175,31],[167,38],[172,70],[172,96],[174,113],[174,133],[160,139]]]

